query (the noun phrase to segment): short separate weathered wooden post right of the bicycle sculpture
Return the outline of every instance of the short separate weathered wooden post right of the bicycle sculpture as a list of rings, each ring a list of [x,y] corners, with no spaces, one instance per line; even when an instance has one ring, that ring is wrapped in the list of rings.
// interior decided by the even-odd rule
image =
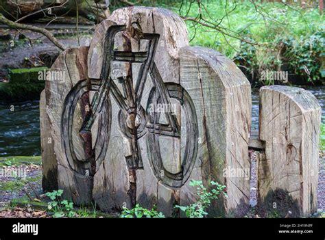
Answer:
[[[320,110],[315,96],[302,88],[261,88],[265,159],[258,163],[258,204],[262,211],[273,209],[282,217],[290,211],[298,217],[317,210]]]

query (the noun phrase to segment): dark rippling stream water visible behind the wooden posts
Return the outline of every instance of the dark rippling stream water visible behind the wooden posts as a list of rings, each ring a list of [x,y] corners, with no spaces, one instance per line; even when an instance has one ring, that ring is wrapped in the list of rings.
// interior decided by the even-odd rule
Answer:
[[[325,116],[325,86],[307,89]],[[258,129],[258,90],[252,91],[252,129]],[[40,155],[39,101],[0,103],[0,157],[34,155]]]

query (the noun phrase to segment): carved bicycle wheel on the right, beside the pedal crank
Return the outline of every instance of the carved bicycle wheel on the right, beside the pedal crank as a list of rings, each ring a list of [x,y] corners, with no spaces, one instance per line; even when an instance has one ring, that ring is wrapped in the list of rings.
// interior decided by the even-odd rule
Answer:
[[[147,148],[152,170],[163,184],[181,187],[188,180],[197,156],[197,116],[191,97],[181,85],[165,83],[170,105],[165,105],[155,88],[149,94]],[[169,131],[167,113],[180,126],[179,132]]]

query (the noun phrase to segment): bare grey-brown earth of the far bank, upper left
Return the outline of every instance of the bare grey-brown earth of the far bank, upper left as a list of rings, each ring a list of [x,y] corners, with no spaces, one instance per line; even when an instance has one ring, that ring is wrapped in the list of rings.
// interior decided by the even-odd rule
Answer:
[[[80,46],[88,46],[91,42],[93,25],[80,25],[79,29]],[[75,25],[54,23],[49,26],[49,31],[64,46],[77,47]],[[49,67],[59,53],[60,49],[42,34],[0,26],[0,81],[8,80],[8,69]]]

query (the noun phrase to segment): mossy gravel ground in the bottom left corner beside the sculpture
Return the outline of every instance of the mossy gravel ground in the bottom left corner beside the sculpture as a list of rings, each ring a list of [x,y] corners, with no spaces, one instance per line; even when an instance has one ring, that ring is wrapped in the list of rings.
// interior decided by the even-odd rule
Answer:
[[[0,217],[46,217],[28,204],[17,206],[16,200],[41,202],[42,162],[40,157],[0,158]],[[46,205],[45,205],[46,206]]]

